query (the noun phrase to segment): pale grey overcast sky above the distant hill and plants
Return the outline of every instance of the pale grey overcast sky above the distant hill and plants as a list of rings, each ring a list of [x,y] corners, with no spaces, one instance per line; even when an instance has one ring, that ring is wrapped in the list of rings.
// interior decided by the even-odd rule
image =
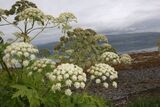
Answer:
[[[0,0],[9,8],[16,0]],[[159,32],[160,0],[32,0],[45,13],[58,16],[72,12],[78,18],[74,27],[92,28],[99,33]],[[8,28],[6,34],[14,32]],[[59,31],[46,31],[34,42],[57,41]]]

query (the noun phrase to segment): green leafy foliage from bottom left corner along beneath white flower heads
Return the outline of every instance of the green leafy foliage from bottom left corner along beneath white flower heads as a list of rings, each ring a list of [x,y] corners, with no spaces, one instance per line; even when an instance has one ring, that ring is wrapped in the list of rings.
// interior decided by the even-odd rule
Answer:
[[[103,98],[77,93],[66,96],[63,93],[50,91],[49,84],[42,82],[43,75],[36,73],[31,77],[26,71],[13,71],[12,79],[6,72],[0,72],[0,105],[1,107],[106,107],[111,105]],[[18,73],[17,73],[18,72]],[[44,78],[45,79],[45,78]],[[48,80],[47,80],[48,81]]]

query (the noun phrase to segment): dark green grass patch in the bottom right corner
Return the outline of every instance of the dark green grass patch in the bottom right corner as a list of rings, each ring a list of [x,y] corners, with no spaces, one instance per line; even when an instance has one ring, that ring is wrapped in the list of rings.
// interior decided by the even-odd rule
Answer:
[[[160,107],[160,97],[140,97],[129,101],[127,107]]]

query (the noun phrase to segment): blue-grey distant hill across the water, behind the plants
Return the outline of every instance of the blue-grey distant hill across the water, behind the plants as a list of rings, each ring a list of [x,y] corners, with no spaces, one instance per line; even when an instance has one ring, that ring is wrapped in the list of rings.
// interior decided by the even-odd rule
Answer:
[[[107,35],[109,43],[112,44],[118,52],[128,52],[141,49],[149,49],[156,47],[157,40],[160,38],[158,32],[144,32],[144,33],[128,33]],[[53,50],[53,47],[58,42],[37,45],[39,48],[48,48]]]

